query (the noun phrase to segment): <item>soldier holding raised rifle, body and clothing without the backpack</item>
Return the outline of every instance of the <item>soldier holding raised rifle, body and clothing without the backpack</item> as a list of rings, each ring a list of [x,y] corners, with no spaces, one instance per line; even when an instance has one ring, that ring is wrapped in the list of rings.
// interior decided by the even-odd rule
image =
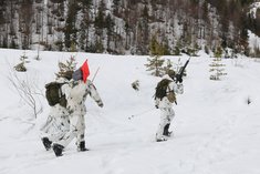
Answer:
[[[184,86],[181,83],[183,79],[179,80],[180,83],[176,83],[174,79],[175,79],[174,71],[170,71],[168,74],[164,75],[162,81],[168,80],[169,82],[167,85],[166,95],[163,96],[162,99],[155,98],[155,106],[160,110],[160,123],[159,123],[158,131],[156,133],[157,142],[166,141],[170,136],[170,133],[171,133],[168,131],[168,129],[169,129],[171,120],[175,116],[175,112],[173,110],[173,104],[175,101],[171,101],[167,96],[167,93],[169,91],[174,91],[174,93],[177,93],[177,94],[184,93]]]

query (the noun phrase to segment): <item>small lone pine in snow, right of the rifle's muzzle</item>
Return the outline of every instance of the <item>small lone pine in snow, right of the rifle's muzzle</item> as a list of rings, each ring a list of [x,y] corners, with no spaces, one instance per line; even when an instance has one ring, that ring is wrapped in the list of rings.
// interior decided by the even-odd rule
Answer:
[[[222,57],[222,49],[221,47],[218,47],[215,51],[215,58],[212,59],[212,62],[209,64],[210,70],[209,72],[212,72],[210,75],[210,80],[220,80],[220,76],[227,75],[225,73],[225,64],[221,63],[221,57]]]

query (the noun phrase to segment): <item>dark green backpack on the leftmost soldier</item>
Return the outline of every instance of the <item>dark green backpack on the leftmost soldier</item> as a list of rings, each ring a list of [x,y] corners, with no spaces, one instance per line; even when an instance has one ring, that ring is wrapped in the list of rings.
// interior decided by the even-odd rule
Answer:
[[[65,83],[50,82],[45,84],[45,96],[49,105],[53,106],[59,103],[61,106],[66,108],[66,98],[61,91],[63,84]]]

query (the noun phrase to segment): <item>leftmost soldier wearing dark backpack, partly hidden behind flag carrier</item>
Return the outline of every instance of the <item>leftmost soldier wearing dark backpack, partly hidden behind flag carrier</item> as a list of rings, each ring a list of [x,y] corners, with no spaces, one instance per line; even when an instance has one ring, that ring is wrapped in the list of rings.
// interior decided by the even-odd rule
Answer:
[[[46,151],[51,149],[52,142],[60,140],[70,131],[65,90],[69,88],[72,73],[73,71],[59,73],[54,82],[45,85],[51,109],[45,124],[41,127],[41,140]]]

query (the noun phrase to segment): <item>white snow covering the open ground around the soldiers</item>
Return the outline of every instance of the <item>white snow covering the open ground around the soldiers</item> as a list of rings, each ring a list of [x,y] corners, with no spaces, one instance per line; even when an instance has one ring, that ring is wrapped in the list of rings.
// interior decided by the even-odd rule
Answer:
[[[72,142],[64,155],[55,157],[40,141],[49,105],[39,96],[43,112],[33,117],[8,80],[19,63],[20,50],[0,50],[0,174],[259,174],[260,173],[260,63],[253,59],[223,59],[226,76],[210,81],[212,58],[200,52],[191,58],[178,95],[170,130],[174,137],[155,142],[159,111],[153,94],[159,78],[148,74],[148,57],[25,51],[30,79],[44,94],[44,84],[54,79],[58,62],[76,57],[77,66],[89,59],[104,108],[87,99],[86,146],[76,152]],[[166,57],[177,62],[179,57]],[[184,63],[188,57],[183,55]],[[139,80],[141,90],[131,83]],[[250,99],[251,103],[247,104]],[[128,119],[129,116],[133,119]]]

